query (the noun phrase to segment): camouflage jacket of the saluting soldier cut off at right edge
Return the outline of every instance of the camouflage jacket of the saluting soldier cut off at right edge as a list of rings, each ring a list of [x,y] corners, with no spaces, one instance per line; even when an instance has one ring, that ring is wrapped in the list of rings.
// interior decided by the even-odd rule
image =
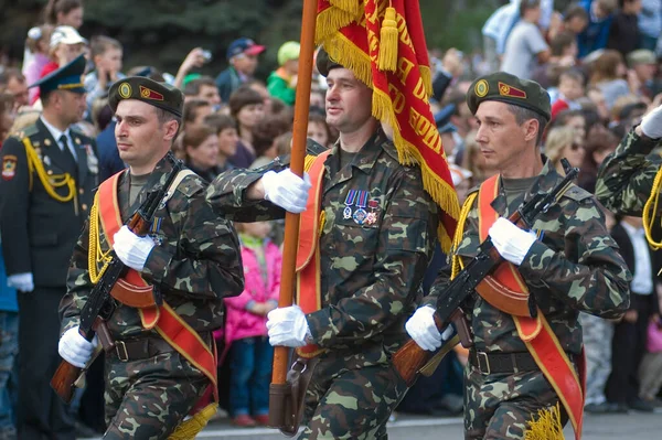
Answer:
[[[615,214],[640,217],[662,164],[662,158],[651,151],[661,144],[662,140],[638,136],[632,129],[600,165],[596,182],[600,203]]]

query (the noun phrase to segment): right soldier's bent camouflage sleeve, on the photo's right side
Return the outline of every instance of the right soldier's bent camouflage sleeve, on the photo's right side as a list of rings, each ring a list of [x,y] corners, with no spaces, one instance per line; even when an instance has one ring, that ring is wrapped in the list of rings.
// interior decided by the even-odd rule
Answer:
[[[562,219],[565,247],[555,250],[536,240],[520,272],[530,287],[549,291],[574,310],[620,318],[630,303],[632,277],[594,198],[576,206],[574,215]]]

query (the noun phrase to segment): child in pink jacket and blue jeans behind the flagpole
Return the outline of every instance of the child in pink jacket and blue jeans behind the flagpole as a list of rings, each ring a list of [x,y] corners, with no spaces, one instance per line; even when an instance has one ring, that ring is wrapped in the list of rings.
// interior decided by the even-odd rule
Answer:
[[[268,222],[235,224],[242,243],[245,289],[226,298],[225,342],[229,347],[229,412],[239,427],[267,425],[274,348],[267,313],[278,305],[281,254],[267,237]]]

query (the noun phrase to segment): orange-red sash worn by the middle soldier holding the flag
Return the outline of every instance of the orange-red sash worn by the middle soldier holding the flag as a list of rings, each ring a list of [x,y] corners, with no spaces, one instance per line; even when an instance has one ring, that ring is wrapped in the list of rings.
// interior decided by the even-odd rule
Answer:
[[[312,186],[308,191],[306,211],[299,217],[299,247],[297,249],[297,304],[303,313],[312,313],[322,307],[320,286],[320,234],[323,227],[322,179],[324,161],[331,150],[307,161],[307,171]],[[301,357],[314,357],[322,350],[308,344],[297,348]]]

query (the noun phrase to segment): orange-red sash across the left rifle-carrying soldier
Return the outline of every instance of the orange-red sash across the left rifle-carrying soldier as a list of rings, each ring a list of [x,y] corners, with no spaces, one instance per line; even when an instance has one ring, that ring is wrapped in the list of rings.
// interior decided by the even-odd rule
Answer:
[[[122,172],[120,171],[104,181],[98,190],[99,218],[104,235],[110,246],[113,246],[115,234],[124,225],[117,200],[117,184]],[[92,253],[95,249],[88,251]],[[130,268],[124,279],[134,286],[149,286],[138,271]],[[197,332],[166,302],[161,307],[153,305],[147,309],[138,309],[138,312],[145,329],[154,329],[180,355],[184,356],[211,380],[214,397],[217,400],[216,355],[202,341]]]

